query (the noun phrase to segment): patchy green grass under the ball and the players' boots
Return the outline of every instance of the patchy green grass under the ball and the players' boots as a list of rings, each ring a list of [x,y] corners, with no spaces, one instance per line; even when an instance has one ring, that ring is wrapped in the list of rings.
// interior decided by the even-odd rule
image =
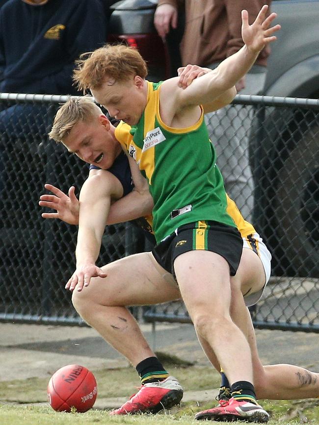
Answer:
[[[183,383],[185,391],[216,388],[218,375],[209,367],[170,366],[170,371]],[[133,368],[93,371],[98,382],[98,398],[127,397],[138,386]],[[0,382],[0,424],[5,425],[71,425],[71,424],[199,424],[194,413],[212,407],[215,401],[199,403],[194,400],[168,412],[157,415],[110,417],[107,410],[91,409],[86,413],[54,412],[46,402],[48,379],[30,378]],[[319,400],[263,401],[270,413],[269,425],[316,424],[319,425]],[[215,422],[209,422],[215,423]],[[217,424],[217,423],[216,423]]]

